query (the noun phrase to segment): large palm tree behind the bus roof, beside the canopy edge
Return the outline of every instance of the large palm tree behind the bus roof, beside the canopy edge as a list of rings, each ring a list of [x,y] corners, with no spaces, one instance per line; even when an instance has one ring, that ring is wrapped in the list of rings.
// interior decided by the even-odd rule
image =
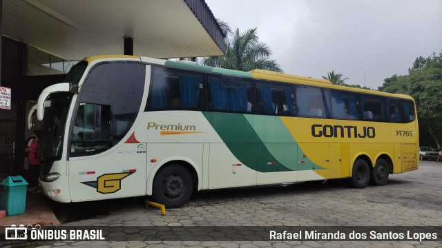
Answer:
[[[225,28],[227,23],[223,25]],[[228,25],[227,30],[230,30]],[[269,59],[271,49],[267,44],[259,41],[256,28],[251,28],[244,33],[240,33],[237,28],[236,32],[231,35],[232,37],[226,39],[226,55],[204,58],[202,59],[203,65],[244,72],[254,69],[282,72],[280,65],[275,60]]]

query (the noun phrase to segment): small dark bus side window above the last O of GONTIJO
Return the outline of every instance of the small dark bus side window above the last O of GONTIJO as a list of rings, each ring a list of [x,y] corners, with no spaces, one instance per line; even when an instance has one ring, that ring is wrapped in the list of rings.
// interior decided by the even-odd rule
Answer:
[[[387,121],[385,100],[383,97],[363,96],[362,98],[363,120]]]

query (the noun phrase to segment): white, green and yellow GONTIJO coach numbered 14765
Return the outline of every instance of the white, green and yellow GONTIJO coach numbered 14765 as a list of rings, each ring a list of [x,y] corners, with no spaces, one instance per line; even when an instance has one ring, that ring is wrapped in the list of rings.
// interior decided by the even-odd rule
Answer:
[[[180,207],[193,190],[333,178],[364,188],[419,166],[410,96],[140,56],[84,59],[65,82],[37,103],[39,182],[63,203]]]

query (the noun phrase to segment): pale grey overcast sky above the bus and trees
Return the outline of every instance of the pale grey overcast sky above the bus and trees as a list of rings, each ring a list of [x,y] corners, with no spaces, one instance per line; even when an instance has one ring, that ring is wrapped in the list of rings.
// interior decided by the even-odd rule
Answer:
[[[442,50],[441,0],[206,0],[232,30],[258,28],[282,70],[377,90]]]

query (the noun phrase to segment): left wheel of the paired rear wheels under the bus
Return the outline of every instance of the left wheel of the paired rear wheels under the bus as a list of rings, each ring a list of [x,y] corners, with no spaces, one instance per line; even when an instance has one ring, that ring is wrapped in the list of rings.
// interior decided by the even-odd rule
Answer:
[[[358,156],[352,166],[352,175],[349,178],[349,183],[358,189],[367,187],[370,174],[372,171],[372,161],[367,155]]]

